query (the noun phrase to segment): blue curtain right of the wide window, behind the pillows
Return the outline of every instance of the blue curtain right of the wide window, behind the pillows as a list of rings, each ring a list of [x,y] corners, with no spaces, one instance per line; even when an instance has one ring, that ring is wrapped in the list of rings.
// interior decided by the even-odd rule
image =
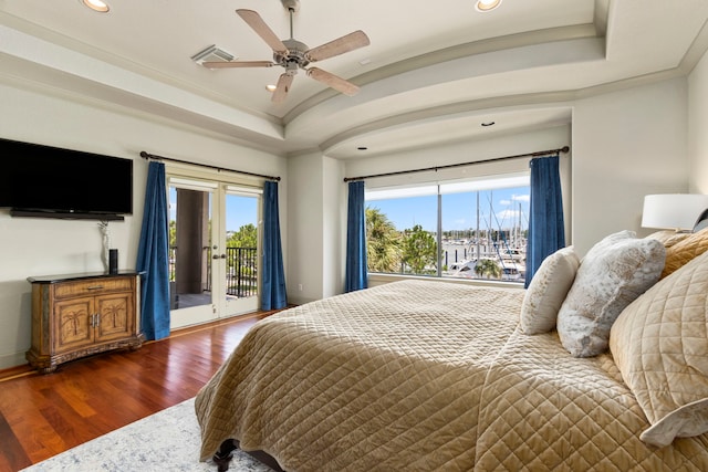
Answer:
[[[530,167],[531,214],[527,247],[527,287],[541,262],[565,247],[559,157],[555,155],[531,159]]]

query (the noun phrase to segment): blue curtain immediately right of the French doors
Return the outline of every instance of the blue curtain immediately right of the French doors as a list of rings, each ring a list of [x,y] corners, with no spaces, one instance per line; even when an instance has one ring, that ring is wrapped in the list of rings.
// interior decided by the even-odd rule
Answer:
[[[261,310],[284,308],[287,304],[283,251],[280,245],[278,182],[268,180],[263,187],[263,277]]]

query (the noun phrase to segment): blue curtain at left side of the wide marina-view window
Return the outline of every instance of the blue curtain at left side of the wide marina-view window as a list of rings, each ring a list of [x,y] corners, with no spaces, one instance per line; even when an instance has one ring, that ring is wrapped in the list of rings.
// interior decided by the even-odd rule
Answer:
[[[350,182],[346,213],[346,273],[344,292],[367,287],[366,280],[366,212],[364,181]]]

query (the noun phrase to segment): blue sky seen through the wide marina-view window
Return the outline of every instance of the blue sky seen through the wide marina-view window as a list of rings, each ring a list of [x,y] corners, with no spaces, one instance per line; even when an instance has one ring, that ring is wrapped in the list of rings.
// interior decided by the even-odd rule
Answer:
[[[367,207],[378,208],[396,225],[404,230],[420,224],[427,231],[437,229],[437,196],[373,200]],[[529,187],[479,191],[479,227],[509,229],[513,224],[529,227]],[[477,227],[477,192],[442,196],[444,231],[475,229]]]

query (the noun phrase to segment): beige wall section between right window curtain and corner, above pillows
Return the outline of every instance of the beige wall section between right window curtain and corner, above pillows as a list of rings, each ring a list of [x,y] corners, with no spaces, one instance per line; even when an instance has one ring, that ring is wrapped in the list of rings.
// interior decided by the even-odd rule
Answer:
[[[577,101],[573,112],[573,243],[641,228],[644,196],[688,190],[687,83],[664,81]]]

